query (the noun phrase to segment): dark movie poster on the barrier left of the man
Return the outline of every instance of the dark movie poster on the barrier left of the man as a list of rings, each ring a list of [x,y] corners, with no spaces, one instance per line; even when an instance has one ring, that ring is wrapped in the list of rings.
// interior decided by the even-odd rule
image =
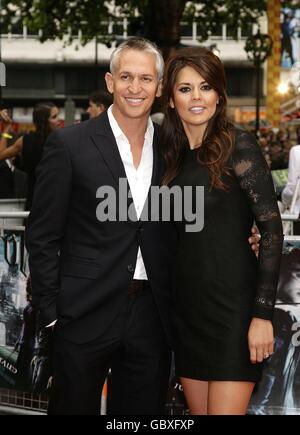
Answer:
[[[24,232],[0,236],[0,387],[27,392],[47,389],[49,338],[37,330],[31,302]]]

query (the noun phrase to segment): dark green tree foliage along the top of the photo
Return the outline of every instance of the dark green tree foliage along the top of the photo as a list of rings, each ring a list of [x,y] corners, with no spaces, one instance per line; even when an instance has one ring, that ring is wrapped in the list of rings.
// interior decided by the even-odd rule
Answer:
[[[293,1],[293,0],[290,0]],[[266,10],[266,0],[2,0],[2,29],[25,23],[30,31],[42,31],[41,41],[60,38],[80,43],[98,38],[109,44],[107,23],[127,17],[129,34],[141,35],[160,47],[180,43],[180,21],[196,21],[201,40],[206,40],[226,22],[236,35],[237,28],[256,23]]]

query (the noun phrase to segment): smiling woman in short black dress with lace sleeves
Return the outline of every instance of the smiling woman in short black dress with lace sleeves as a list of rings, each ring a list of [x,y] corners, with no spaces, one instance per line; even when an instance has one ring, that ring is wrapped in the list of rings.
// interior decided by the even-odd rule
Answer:
[[[191,414],[200,413],[204,386],[208,414],[245,414],[273,353],[281,219],[259,146],[226,118],[225,87],[219,58],[205,48],[167,64],[164,184],[205,191],[203,230],[186,232],[176,222],[175,361]],[[258,261],[247,242],[254,220],[262,235]]]

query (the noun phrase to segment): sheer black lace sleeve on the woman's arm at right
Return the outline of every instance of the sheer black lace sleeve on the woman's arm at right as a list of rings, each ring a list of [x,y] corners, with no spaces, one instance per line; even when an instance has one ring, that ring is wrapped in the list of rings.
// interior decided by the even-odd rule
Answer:
[[[261,234],[253,317],[271,320],[279,277],[283,230],[271,172],[254,136],[237,132],[233,169]]]

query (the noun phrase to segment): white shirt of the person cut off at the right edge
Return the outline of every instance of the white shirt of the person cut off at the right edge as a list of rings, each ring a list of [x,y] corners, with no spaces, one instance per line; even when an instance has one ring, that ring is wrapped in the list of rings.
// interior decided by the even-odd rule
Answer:
[[[289,172],[288,182],[282,191],[282,202],[286,207],[289,207],[295,192],[297,179],[300,177],[300,145],[291,148],[289,156]],[[296,214],[300,213],[300,191],[296,199],[295,210]]]

